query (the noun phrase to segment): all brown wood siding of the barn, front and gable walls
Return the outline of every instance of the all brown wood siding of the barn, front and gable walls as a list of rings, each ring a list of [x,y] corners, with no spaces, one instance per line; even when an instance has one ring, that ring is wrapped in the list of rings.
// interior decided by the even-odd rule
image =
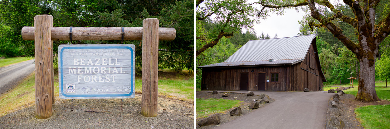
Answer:
[[[202,90],[240,90],[240,74],[248,73],[248,90],[257,91],[259,73],[266,73],[266,91],[322,91],[323,79],[317,61],[315,39],[310,45],[305,59],[290,66],[263,66],[242,68],[204,68],[202,70]],[[252,70],[254,70],[252,72]],[[278,73],[279,81],[271,82],[271,73]]]

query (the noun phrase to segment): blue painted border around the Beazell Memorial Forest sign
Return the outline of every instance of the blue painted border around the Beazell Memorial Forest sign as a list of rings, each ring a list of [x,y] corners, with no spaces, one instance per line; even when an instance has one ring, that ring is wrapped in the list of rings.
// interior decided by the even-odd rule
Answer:
[[[64,84],[63,84],[63,78],[62,76],[64,75],[62,73],[62,69],[63,69],[63,66],[62,66],[62,52],[65,50],[65,49],[129,49],[131,51],[131,91],[129,94],[65,94],[64,93]],[[128,46],[102,46],[102,47],[98,47],[98,46],[85,46],[85,47],[63,47],[61,49],[61,64],[60,64],[60,68],[61,68],[61,89],[62,89],[62,92],[61,94],[65,97],[120,97],[120,96],[131,96],[133,94],[133,90],[134,90],[134,80],[133,80],[133,72],[135,70],[134,68],[134,55],[133,55],[133,48],[131,47],[128,47]]]

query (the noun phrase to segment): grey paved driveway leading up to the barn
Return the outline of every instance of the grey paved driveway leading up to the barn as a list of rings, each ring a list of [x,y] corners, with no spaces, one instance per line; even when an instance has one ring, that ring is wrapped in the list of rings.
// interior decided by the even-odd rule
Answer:
[[[268,94],[269,98],[275,101],[238,119],[216,126],[215,129],[325,129],[328,100],[334,94],[326,91],[254,93]]]

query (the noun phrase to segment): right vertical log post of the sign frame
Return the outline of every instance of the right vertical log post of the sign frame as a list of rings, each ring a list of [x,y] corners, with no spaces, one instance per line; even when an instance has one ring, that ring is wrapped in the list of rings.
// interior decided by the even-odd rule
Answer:
[[[158,19],[142,21],[142,104],[141,114],[157,116]]]

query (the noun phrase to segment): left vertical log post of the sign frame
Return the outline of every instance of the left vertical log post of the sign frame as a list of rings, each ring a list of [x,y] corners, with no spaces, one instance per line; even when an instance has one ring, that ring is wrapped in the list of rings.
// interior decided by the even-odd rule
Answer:
[[[35,117],[46,119],[53,115],[53,16],[34,17],[35,39]]]

